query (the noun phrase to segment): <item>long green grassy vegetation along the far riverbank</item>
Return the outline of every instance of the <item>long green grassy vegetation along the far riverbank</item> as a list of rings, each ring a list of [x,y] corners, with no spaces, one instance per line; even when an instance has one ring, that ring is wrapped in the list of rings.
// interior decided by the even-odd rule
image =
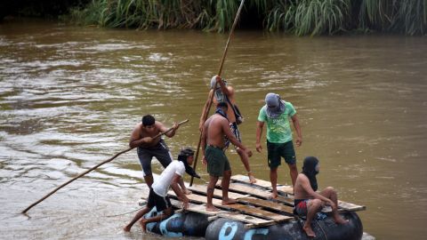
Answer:
[[[44,4],[45,9],[55,6],[53,2],[37,3]],[[69,9],[69,16],[82,25],[225,32],[232,26],[240,0],[68,0],[64,3],[68,7],[80,5]],[[82,7],[83,3],[88,4]],[[347,31],[427,34],[427,0],[246,0],[242,15],[241,27],[262,26],[297,36]]]

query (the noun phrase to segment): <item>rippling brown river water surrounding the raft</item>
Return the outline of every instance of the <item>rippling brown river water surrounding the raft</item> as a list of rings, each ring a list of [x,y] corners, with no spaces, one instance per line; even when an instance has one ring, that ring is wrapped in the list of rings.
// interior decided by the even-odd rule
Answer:
[[[0,238],[162,239],[121,230],[147,191],[133,150],[29,204],[128,148],[145,114],[171,126],[166,143],[197,147],[208,82],[228,35],[195,30],[67,27],[38,20],[0,25]],[[319,187],[364,204],[364,231],[376,239],[427,235],[426,37],[294,37],[237,30],[222,76],[236,88],[244,143],[254,150],[268,92],[294,104],[297,148],[321,161]],[[265,136],[263,137],[265,140]],[[265,147],[264,147],[265,149]],[[234,151],[233,173],[245,174]],[[268,180],[266,152],[251,158]],[[157,161],[154,171],[161,172]],[[205,168],[197,164],[203,183]],[[286,165],[279,183],[289,184]],[[189,180],[189,177],[186,177]],[[115,216],[118,215],[118,216]]]

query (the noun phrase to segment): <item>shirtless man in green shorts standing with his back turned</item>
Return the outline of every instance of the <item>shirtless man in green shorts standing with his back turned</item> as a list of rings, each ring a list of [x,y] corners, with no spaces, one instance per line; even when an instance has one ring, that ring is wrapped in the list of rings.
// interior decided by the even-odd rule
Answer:
[[[203,164],[207,164],[207,172],[209,172],[209,183],[206,191],[206,211],[219,211],[212,203],[214,188],[219,177],[222,177],[222,204],[236,203],[234,199],[229,198],[231,168],[229,160],[223,151],[225,147],[224,136],[227,136],[231,143],[245,151],[247,156],[252,156],[251,150],[238,141],[231,132],[226,114],[227,108],[227,103],[218,103],[214,115],[205,121],[202,131],[202,161]]]

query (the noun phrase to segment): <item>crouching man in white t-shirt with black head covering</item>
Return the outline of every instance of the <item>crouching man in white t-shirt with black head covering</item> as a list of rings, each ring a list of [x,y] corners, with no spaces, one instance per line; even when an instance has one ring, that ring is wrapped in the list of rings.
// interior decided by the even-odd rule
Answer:
[[[171,187],[178,196],[182,203],[183,208],[189,206],[189,198],[185,196],[183,190],[180,188],[179,181],[184,175],[184,172],[189,175],[200,178],[197,173],[191,168],[194,160],[194,151],[191,148],[184,148],[181,150],[178,161],[174,160],[171,164],[167,165],[165,170],[160,174],[160,177],[151,185],[149,189],[149,201],[147,205],[133,217],[133,220],[124,228],[125,232],[129,232],[133,224],[140,220],[147,212],[151,211],[156,206],[157,212],[162,214],[149,219],[140,220],[140,225],[143,232],[146,232],[146,225],[149,222],[157,222],[169,218],[173,214],[172,204],[167,196],[167,191]]]

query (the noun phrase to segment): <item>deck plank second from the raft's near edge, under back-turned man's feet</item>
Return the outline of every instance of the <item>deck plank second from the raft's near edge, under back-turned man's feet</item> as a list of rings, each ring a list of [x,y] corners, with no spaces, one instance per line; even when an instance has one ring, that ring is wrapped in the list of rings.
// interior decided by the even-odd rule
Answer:
[[[175,193],[173,191],[169,191],[168,195],[176,197]],[[193,202],[193,203],[197,203],[197,204],[206,204],[207,203],[206,196],[199,196],[196,194],[190,194],[190,195],[187,195],[187,197],[189,198],[189,201]],[[268,219],[268,220],[283,221],[283,220],[294,219],[292,217],[280,215],[280,214],[277,214],[274,212],[268,212],[265,210],[257,209],[257,208],[250,207],[250,206],[243,205],[243,204],[222,205],[222,200],[216,199],[216,198],[214,198],[212,200],[212,203],[214,204],[215,207],[219,207],[222,209],[228,209],[228,210],[236,210],[238,212],[243,212],[243,213],[246,213],[249,215],[253,215],[253,216],[260,217],[263,219]]]

